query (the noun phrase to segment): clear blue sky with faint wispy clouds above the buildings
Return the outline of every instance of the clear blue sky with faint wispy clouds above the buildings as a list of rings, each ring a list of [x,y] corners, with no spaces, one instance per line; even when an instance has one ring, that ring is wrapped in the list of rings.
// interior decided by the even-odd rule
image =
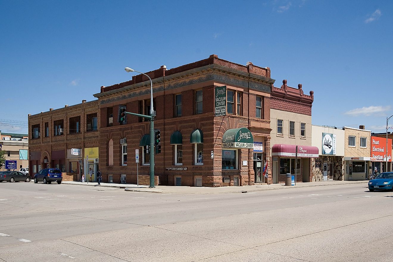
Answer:
[[[270,67],[277,87],[314,90],[314,125],[385,132],[392,11],[392,1],[363,0],[0,0],[0,130],[27,133],[27,114],[94,100],[132,77],[126,66],[217,54]]]

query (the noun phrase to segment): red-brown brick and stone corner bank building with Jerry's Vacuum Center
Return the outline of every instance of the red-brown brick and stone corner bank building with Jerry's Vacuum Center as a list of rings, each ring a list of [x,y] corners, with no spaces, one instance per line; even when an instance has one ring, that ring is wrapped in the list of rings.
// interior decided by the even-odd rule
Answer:
[[[270,152],[270,91],[274,84],[270,68],[251,62],[244,66],[211,55],[146,74],[153,82],[154,127],[162,136],[162,152],[155,155],[156,183],[253,185],[257,170],[252,143],[259,142],[260,151]],[[215,88],[223,87],[227,115],[215,117]],[[149,114],[150,81],[136,75],[127,82],[103,86],[94,96],[100,108],[103,182],[136,183],[135,149],[140,150],[140,180],[145,180],[149,175],[149,122],[127,115],[120,124],[118,116],[121,108]],[[251,141],[251,147],[247,142],[235,143],[235,137],[249,139],[244,141]],[[266,154],[262,158],[255,160],[266,161]]]

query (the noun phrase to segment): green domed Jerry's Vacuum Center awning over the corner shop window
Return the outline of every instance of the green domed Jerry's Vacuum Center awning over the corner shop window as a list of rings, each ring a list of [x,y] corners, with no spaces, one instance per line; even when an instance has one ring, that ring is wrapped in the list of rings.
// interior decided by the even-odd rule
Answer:
[[[222,136],[222,148],[253,148],[254,139],[251,131],[245,127],[232,128]]]

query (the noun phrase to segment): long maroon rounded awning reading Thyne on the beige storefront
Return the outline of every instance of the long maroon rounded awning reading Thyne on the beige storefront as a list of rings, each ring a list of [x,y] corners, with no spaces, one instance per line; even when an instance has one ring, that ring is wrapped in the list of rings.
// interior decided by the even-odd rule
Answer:
[[[274,144],[272,147],[272,156],[296,156],[296,145]],[[299,158],[318,158],[318,147],[298,146]]]

